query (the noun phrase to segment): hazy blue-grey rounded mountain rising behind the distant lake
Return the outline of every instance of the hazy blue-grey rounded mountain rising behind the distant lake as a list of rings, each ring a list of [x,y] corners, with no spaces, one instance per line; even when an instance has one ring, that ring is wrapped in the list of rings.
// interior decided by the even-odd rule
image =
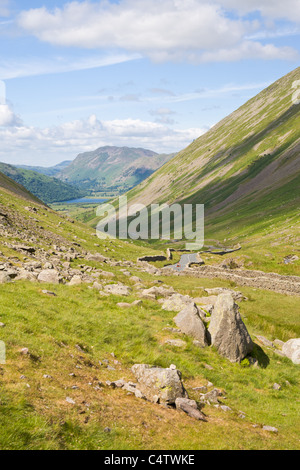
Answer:
[[[84,190],[126,191],[172,158],[151,150],[128,147],[100,147],[82,153],[58,177]]]

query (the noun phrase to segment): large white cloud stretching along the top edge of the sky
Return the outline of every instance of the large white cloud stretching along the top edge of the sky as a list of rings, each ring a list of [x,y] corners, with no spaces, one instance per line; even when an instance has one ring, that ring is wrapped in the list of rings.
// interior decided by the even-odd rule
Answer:
[[[261,22],[230,18],[224,8],[237,9],[241,14],[260,10],[271,18],[296,20],[299,5],[299,0],[284,4],[270,0],[84,1],[66,3],[52,11],[46,7],[23,11],[18,23],[29,34],[55,46],[123,49],[157,62],[232,61],[241,55],[294,60],[294,50],[249,44],[245,38],[261,29]]]

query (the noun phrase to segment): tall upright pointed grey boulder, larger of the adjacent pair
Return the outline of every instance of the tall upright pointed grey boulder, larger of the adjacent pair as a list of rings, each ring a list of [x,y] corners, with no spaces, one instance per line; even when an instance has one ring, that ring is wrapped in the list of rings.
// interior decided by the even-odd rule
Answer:
[[[230,294],[221,294],[215,303],[208,331],[211,344],[231,362],[240,362],[253,349],[252,339]]]

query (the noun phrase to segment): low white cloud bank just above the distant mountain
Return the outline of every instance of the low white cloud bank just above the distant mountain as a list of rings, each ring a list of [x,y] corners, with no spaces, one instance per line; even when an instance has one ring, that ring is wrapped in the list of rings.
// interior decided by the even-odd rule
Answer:
[[[159,153],[174,152],[185,148],[206,130],[173,129],[165,124],[140,119],[100,121],[95,115],[86,120],[44,129],[24,124],[0,127],[0,161],[49,166],[104,145],[145,147]]]

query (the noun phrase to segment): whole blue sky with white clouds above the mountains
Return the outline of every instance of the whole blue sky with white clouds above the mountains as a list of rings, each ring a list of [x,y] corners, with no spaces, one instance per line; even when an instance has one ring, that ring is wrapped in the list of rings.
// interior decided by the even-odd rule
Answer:
[[[178,152],[299,66],[299,0],[0,0],[0,161]]]

